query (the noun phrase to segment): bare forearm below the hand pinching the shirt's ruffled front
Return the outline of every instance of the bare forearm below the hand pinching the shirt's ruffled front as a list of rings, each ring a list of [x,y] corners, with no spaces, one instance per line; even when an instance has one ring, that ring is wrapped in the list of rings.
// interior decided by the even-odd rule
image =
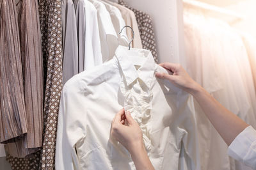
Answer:
[[[137,170],[154,170],[144,146],[134,147],[131,157]]]

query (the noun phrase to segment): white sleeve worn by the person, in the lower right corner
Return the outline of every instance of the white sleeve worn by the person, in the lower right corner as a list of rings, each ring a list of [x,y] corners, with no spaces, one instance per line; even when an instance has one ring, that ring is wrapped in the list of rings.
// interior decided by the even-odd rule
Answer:
[[[256,130],[247,127],[228,147],[228,155],[256,169]]]

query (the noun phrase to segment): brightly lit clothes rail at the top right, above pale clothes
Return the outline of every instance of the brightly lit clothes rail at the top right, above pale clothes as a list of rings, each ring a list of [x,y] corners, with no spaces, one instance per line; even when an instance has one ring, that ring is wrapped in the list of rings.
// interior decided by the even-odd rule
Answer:
[[[233,19],[233,21],[244,19],[244,17],[242,15],[239,15],[235,12],[230,11],[230,10],[225,10],[225,9],[220,8],[218,6],[214,6],[214,5],[207,4],[207,3],[202,3],[202,2],[199,2],[199,1],[195,1],[195,0],[183,0],[183,5],[184,5],[184,7],[192,6],[194,8],[199,8],[200,10],[204,10],[204,12],[207,12],[207,13],[213,12],[214,14],[221,15],[221,17],[223,17],[223,15],[226,16],[226,17],[231,17]]]

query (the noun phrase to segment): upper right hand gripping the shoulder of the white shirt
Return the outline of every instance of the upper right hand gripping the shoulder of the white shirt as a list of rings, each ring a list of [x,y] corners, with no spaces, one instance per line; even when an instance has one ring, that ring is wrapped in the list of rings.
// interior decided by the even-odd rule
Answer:
[[[173,63],[161,63],[160,66],[163,66],[166,70],[172,72],[173,74],[168,73],[156,73],[156,77],[160,79],[167,79],[172,82],[178,88],[187,91],[188,93],[192,93],[196,88],[200,87],[188,73],[184,70],[184,68],[179,64]]]

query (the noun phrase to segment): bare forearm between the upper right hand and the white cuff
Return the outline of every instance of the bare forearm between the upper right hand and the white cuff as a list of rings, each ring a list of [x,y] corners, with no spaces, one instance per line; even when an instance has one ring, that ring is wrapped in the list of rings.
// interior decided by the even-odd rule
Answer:
[[[249,126],[235,114],[223,107],[223,105],[200,85],[196,85],[195,88],[191,89],[191,94],[228,146],[244,128]]]

